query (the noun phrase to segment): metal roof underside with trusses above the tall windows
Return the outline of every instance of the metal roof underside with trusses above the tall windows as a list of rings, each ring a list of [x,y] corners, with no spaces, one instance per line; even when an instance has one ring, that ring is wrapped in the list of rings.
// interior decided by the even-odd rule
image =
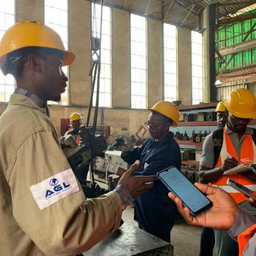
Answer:
[[[93,0],[86,0],[93,2]],[[210,4],[230,4],[219,7],[219,16],[236,16],[238,10],[246,12],[255,8],[246,0],[104,0],[104,5],[123,9],[138,15],[163,20],[170,24],[186,26],[192,30],[198,30],[199,16],[202,16],[203,10]],[[253,2],[253,1],[251,1]],[[101,3],[97,0],[96,3]],[[254,1],[256,3],[256,1]],[[251,6],[251,7],[248,7]],[[241,11],[242,10],[242,11]],[[237,14],[236,14],[237,13]]]

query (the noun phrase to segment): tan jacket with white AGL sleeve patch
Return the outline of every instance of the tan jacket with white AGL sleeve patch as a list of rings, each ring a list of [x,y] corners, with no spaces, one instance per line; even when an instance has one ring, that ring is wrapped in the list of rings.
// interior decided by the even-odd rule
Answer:
[[[120,196],[111,191],[86,200],[79,183],[75,193],[39,208],[30,187],[70,168],[45,113],[31,98],[12,94],[0,117],[1,255],[76,255],[120,225]]]

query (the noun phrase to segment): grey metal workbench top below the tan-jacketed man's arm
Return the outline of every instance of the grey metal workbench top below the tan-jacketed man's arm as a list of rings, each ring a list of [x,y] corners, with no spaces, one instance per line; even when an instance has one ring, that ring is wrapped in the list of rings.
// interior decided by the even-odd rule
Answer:
[[[84,256],[173,256],[173,245],[136,226],[124,223]]]

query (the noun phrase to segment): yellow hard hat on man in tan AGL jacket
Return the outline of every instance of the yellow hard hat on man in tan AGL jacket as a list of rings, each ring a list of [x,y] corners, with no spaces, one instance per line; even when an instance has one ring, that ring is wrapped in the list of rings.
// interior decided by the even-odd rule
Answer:
[[[51,27],[34,20],[18,22],[5,31],[0,41],[0,67],[4,66],[8,53],[25,47],[46,47],[63,52],[63,66],[75,60],[73,52],[66,51],[60,35]]]

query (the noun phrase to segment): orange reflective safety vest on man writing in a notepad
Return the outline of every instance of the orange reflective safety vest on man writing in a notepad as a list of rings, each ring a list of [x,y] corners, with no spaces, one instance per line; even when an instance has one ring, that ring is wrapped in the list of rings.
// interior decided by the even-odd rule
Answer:
[[[229,154],[232,155],[233,158],[236,158],[239,161],[237,152],[234,149],[234,146],[229,136],[226,134],[226,127],[224,127],[223,145],[222,145],[221,153],[219,154],[219,159],[214,168],[222,166],[222,163],[226,159],[227,152],[229,152]],[[256,146],[252,140],[251,134],[246,134],[245,139],[243,141],[243,145],[241,147],[239,164],[241,165],[243,163],[248,164],[253,162],[256,162]],[[256,182],[251,181],[244,175],[231,174],[231,175],[222,175],[221,177],[219,177],[219,179],[216,182],[211,183],[212,186],[222,188],[226,192],[228,192],[234,198],[237,204],[245,200],[248,201],[248,198],[244,196],[243,193],[239,192],[238,190],[226,184],[226,181],[228,178],[244,185],[247,188],[250,188],[253,191],[256,190]]]

